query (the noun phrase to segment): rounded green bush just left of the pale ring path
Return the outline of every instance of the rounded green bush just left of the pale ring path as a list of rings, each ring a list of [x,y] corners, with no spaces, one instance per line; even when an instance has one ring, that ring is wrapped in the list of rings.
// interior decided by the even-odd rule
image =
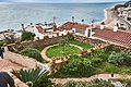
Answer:
[[[37,49],[25,48],[25,49],[23,49],[22,51],[20,51],[20,54],[34,58],[34,59],[36,59],[36,60],[39,61],[39,62],[43,62],[43,61],[44,61],[43,58],[41,58],[40,52],[39,52]]]

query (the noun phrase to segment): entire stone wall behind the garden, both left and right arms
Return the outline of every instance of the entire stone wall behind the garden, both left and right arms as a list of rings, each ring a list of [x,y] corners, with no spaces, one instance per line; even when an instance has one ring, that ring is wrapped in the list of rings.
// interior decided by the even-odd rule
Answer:
[[[10,51],[14,51],[14,49],[20,50],[22,48],[49,46],[49,45],[59,42],[59,40],[61,40],[61,39],[68,39],[70,37],[71,37],[70,35],[64,35],[64,36],[58,36],[58,37],[52,37],[52,38],[39,39],[39,40],[35,40],[35,41],[23,41],[21,44],[8,45],[8,48]],[[81,36],[81,35],[73,35],[73,37],[75,40],[82,41],[84,44],[88,44],[91,46],[104,45],[107,47],[107,46],[111,45],[111,44],[107,44],[107,42],[98,40],[98,39],[92,39],[92,38],[87,38],[87,37]],[[111,46],[112,46],[112,48],[118,48],[124,52],[131,53],[131,48],[126,48],[126,47],[121,47],[118,45],[111,45]]]

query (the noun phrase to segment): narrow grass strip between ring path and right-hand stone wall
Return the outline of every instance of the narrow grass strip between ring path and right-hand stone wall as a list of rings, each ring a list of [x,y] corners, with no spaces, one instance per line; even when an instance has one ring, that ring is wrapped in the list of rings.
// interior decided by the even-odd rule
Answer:
[[[93,46],[88,45],[88,44],[84,44],[84,42],[81,42],[81,41],[78,41],[78,40],[69,40],[70,44],[72,45],[78,45],[84,49],[91,49],[93,48]]]

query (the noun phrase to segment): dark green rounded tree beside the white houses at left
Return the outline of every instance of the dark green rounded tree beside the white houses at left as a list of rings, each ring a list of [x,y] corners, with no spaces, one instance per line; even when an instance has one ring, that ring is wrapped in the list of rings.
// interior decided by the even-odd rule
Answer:
[[[23,32],[22,33],[22,41],[24,41],[24,40],[33,40],[34,39],[34,37],[35,37],[36,35],[34,34],[34,33],[31,33],[31,32]]]

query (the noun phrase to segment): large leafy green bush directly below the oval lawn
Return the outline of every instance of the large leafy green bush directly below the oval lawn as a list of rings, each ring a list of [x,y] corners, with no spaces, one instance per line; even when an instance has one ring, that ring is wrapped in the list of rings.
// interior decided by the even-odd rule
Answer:
[[[95,67],[90,60],[84,60],[73,55],[68,62],[55,74],[56,77],[86,77],[95,74]]]

